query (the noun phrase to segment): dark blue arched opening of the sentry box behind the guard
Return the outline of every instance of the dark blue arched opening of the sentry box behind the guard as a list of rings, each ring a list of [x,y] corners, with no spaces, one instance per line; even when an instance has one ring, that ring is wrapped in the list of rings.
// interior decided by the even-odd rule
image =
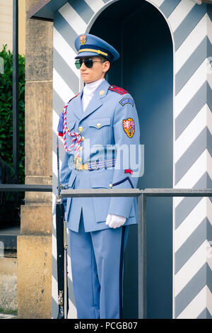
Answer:
[[[165,18],[146,1],[119,0],[100,13],[88,33],[121,54],[107,80],[136,102],[145,149],[139,188],[172,188],[173,45]],[[138,317],[137,304],[137,226],[131,226],[124,257],[124,318]],[[147,200],[147,314],[172,317],[172,198]]]

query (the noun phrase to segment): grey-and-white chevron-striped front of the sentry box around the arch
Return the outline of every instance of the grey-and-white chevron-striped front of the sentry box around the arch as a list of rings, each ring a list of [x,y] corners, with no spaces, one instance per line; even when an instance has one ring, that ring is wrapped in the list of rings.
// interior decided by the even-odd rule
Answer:
[[[118,0],[69,0],[54,16],[53,202],[57,188],[59,114],[81,89],[74,40]],[[163,14],[173,41],[173,188],[212,187],[212,9],[192,0],[146,0]],[[121,1],[120,1],[121,2]],[[60,140],[60,154],[64,152]],[[62,160],[62,154],[60,159]],[[61,161],[60,161],[61,163]],[[173,199],[173,318],[212,316],[212,199]],[[57,316],[55,215],[52,317]],[[76,318],[69,261],[69,317]]]

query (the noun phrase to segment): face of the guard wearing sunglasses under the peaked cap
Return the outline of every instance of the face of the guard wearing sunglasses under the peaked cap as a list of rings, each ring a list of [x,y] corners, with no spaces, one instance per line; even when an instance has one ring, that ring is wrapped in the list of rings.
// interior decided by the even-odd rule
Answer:
[[[109,61],[101,62],[101,59],[99,57],[82,57],[81,59],[93,60],[92,68],[86,67],[84,62],[83,64],[81,64],[80,68],[81,77],[86,84],[103,79],[105,77],[105,73],[110,68],[110,62]]]

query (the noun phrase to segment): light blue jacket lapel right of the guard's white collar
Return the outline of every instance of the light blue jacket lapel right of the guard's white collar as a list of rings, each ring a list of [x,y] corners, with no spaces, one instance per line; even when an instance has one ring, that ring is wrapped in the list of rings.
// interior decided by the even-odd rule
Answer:
[[[102,98],[105,97],[105,95],[107,94],[109,86],[110,84],[107,81],[103,81],[102,84],[100,84],[100,86],[98,86],[98,89],[95,91],[95,94],[93,98],[91,98],[85,112],[83,112],[81,106],[81,120],[83,120],[88,115],[100,108],[100,106],[102,106]]]

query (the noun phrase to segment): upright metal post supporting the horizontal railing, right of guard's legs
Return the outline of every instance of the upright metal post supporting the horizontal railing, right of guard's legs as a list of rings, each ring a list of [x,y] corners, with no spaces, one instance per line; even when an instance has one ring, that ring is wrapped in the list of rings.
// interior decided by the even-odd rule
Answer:
[[[146,318],[146,196],[138,197],[139,319]]]

